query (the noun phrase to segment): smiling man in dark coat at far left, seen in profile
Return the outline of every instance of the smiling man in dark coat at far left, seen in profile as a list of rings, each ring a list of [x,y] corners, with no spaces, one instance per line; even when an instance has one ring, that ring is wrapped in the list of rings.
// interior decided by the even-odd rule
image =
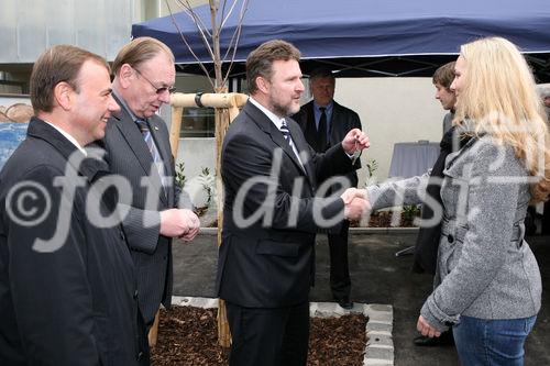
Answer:
[[[54,46],[34,64],[31,101],[0,173],[0,365],[136,365],[134,267],[100,193],[107,164],[84,148],[119,109],[109,66]]]

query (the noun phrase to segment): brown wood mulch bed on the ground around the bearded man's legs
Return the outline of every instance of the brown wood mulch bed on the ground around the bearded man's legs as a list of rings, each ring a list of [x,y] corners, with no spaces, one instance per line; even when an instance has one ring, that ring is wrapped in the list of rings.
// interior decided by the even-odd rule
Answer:
[[[172,307],[161,311],[158,341],[151,361],[156,366],[228,365],[218,345],[217,309]],[[363,365],[367,319],[362,314],[312,318],[308,365]]]

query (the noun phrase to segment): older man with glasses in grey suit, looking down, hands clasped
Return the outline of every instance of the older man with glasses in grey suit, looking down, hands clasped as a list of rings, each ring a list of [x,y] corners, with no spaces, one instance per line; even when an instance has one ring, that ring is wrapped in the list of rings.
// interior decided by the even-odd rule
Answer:
[[[136,266],[140,308],[151,326],[161,303],[172,299],[172,237],[190,241],[199,230],[197,215],[178,207],[174,157],[168,131],[156,115],[174,90],[174,55],[162,42],[139,37],[117,55],[112,70],[113,114],[105,137],[111,173],[127,178],[132,196],[124,200],[123,221]]]

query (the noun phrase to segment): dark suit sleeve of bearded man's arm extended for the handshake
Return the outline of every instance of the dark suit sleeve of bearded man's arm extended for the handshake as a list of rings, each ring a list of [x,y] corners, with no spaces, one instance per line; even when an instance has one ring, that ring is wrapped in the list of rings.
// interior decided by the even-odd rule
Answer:
[[[244,134],[230,138],[222,156],[222,177],[227,191],[237,197],[232,202],[232,212],[242,208],[243,217],[266,209],[267,225],[273,229],[293,229],[305,232],[318,232],[341,225],[343,219],[343,201],[332,198],[300,198],[285,190],[280,184],[280,171],[272,174],[273,156],[262,143]],[[253,179],[261,179],[256,184]],[[244,193],[240,196],[240,193]],[[239,202],[239,197],[242,202]],[[334,218],[334,222],[318,225],[315,217]],[[264,217],[265,218],[265,217]],[[316,223],[317,222],[317,223]]]

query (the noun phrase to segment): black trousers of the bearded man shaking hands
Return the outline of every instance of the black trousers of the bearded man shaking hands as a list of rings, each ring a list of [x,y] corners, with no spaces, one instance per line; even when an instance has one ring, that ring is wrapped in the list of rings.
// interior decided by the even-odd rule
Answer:
[[[304,366],[309,342],[309,302],[285,308],[245,308],[226,302],[232,344],[230,366]]]

